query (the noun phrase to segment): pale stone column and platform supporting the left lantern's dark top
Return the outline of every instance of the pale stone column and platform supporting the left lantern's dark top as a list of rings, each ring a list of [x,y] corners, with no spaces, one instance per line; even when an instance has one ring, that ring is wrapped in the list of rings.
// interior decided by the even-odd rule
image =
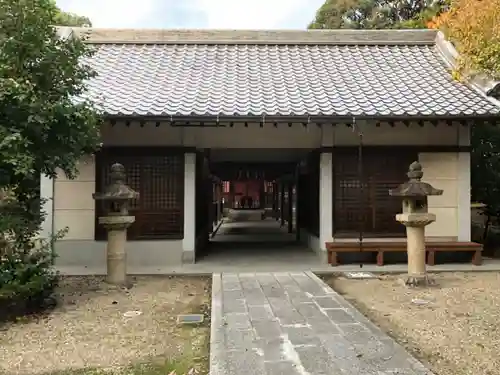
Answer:
[[[127,282],[127,228],[135,221],[134,216],[102,216],[99,224],[108,232],[106,246],[106,281],[113,285]]]

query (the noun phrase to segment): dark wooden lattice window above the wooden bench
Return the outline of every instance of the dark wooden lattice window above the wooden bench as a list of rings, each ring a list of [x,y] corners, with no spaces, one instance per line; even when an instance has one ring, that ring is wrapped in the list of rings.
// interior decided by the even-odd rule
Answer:
[[[362,175],[358,150],[348,148],[334,155],[334,232],[337,236],[400,236],[404,227],[395,219],[401,201],[389,189],[406,180],[408,166],[418,160],[413,151],[387,148],[363,149]]]

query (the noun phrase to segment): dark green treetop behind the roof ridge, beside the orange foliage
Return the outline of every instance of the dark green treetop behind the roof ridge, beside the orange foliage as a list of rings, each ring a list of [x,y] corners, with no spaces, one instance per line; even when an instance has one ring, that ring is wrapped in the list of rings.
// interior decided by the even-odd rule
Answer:
[[[310,29],[425,28],[449,0],[326,0]]]

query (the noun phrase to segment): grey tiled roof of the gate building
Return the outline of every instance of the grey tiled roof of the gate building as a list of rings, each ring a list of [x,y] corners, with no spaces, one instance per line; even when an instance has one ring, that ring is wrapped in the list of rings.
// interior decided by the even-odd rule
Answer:
[[[452,79],[429,33],[406,43],[363,35],[345,43],[332,37],[331,44],[296,36],[276,42],[226,37],[224,43],[97,38],[90,63],[98,76],[86,97],[112,116],[500,114]]]

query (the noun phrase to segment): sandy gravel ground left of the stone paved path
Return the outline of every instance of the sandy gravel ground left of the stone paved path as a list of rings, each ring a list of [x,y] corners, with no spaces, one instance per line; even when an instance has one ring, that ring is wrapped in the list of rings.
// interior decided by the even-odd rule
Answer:
[[[45,317],[0,328],[0,373],[40,374],[154,360],[189,360],[206,370],[209,324],[179,326],[177,315],[209,317],[208,278],[134,278],[129,290],[101,278],[65,278],[59,307]],[[127,311],[140,311],[125,317]]]

